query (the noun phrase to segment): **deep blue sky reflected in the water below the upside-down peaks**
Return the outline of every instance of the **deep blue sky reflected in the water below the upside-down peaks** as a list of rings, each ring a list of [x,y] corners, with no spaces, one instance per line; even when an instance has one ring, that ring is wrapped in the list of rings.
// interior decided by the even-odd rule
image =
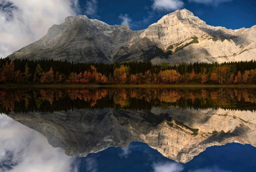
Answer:
[[[249,144],[228,143],[209,147],[186,164],[164,157],[145,143],[133,142],[126,149],[125,155],[122,148],[110,147],[86,158],[79,157],[76,159],[80,164],[79,171],[157,171],[157,166],[166,167],[162,168],[166,171],[184,172],[256,171],[256,148]],[[89,161],[94,162],[93,169],[87,168]]]

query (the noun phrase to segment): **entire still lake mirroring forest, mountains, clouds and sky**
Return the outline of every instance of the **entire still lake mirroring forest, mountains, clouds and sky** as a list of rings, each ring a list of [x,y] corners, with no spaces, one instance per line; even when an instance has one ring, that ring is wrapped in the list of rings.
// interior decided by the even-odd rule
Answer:
[[[253,88],[1,88],[0,171],[256,169]]]

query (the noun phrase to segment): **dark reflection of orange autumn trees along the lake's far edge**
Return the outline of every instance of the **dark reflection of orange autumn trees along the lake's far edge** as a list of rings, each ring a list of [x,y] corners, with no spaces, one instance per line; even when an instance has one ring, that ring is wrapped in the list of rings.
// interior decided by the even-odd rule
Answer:
[[[152,107],[256,110],[256,89],[1,89],[0,112],[53,112],[76,109],[142,109]]]

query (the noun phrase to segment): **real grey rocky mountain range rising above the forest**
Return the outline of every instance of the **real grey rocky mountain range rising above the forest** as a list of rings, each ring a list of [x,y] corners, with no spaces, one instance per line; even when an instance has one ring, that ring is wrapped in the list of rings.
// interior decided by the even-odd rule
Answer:
[[[213,16],[214,17],[214,16]],[[224,62],[256,59],[256,25],[237,30],[207,25],[187,9],[163,16],[147,29],[108,25],[87,16],[70,16],[10,59],[74,62]]]

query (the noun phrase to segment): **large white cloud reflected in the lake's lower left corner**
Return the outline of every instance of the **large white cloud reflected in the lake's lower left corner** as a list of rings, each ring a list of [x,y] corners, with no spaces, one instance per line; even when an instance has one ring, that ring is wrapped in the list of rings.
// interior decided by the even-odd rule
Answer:
[[[0,171],[77,171],[75,158],[53,148],[40,133],[0,115]]]

